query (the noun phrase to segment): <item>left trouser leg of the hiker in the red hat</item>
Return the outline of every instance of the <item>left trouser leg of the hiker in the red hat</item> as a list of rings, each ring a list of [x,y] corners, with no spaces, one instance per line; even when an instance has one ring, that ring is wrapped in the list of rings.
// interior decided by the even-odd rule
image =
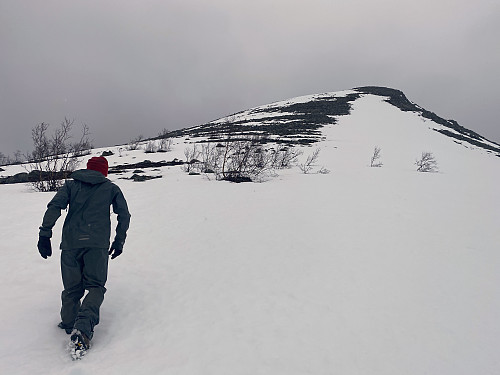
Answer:
[[[61,276],[64,290],[61,293],[61,322],[64,328],[75,323],[80,299],[85,293],[83,287],[83,263],[79,257],[81,249],[61,251]]]

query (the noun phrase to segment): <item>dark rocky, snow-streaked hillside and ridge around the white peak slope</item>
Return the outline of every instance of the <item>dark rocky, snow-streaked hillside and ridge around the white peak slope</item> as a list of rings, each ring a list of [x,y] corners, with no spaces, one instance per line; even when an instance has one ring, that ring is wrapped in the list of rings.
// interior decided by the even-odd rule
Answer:
[[[323,139],[321,128],[334,125],[340,116],[351,113],[352,103],[361,95],[386,97],[386,102],[401,111],[413,111],[436,123],[435,131],[457,141],[500,155],[500,145],[478,133],[446,120],[406,98],[400,90],[366,86],[348,91],[308,95],[281,102],[262,105],[230,116],[170,133],[171,136],[188,136],[198,142],[221,141],[227,138],[245,138],[259,135],[266,140],[290,144],[312,144]],[[441,126],[438,126],[441,125]],[[444,127],[444,129],[442,128]]]

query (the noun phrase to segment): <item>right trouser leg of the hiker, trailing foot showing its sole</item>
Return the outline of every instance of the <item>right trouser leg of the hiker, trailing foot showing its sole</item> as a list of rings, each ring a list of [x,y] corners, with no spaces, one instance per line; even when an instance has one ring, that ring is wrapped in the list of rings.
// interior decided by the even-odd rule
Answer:
[[[89,339],[92,339],[94,327],[99,324],[99,308],[106,293],[108,257],[108,249],[85,249],[83,254],[83,287],[88,293],[78,311],[75,328]]]

